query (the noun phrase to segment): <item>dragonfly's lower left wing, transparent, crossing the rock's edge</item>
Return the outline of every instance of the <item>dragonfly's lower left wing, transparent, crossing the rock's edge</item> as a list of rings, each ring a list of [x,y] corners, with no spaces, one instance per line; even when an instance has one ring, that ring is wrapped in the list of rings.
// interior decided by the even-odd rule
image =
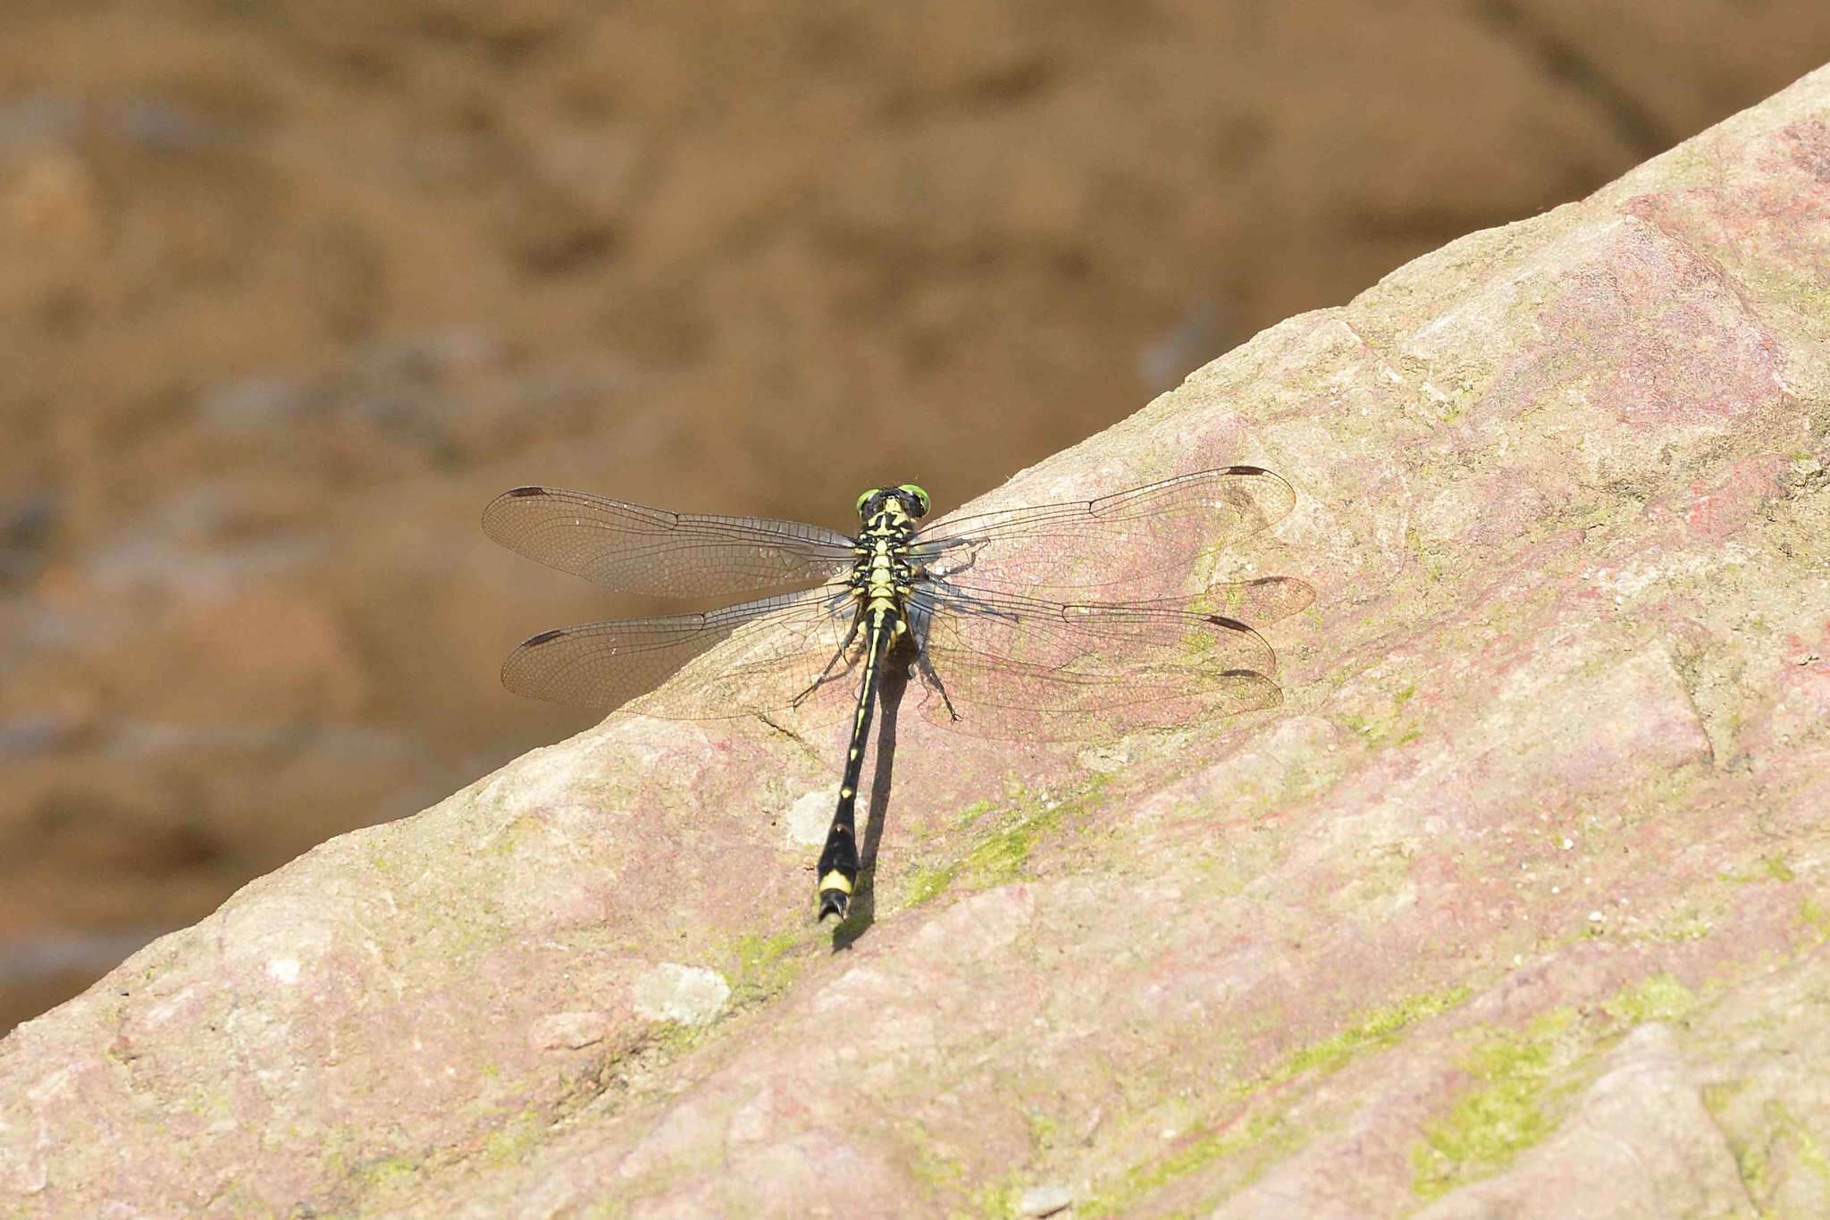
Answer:
[[[800,699],[811,715],[842,704],[829,688],[853,668],[842,653],[853,605],[853,591],[831,583],[705,615],[542,631],[509,655],[501,684],[575,708],[637,701],[631,710],[644,715],[701,721],[791,708],[831,666],[829,680]]]

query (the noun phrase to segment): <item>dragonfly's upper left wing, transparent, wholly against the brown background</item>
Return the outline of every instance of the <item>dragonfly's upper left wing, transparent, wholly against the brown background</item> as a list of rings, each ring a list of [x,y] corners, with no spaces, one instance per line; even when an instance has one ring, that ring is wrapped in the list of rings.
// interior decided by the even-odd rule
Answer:
[[[679,598],[824,582],[856,558],[849,538],[820,525],[668,512],[556,487],[503,492],[483,510],[483,532],[562,573]]]

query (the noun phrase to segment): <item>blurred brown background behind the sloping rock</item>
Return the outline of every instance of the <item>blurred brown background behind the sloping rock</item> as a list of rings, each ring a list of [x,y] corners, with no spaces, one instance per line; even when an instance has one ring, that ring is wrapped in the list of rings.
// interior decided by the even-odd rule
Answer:
[[[584,724],[544,481],[948,508],[1830,59],[1706,0],[9,0],[0,1030]]]

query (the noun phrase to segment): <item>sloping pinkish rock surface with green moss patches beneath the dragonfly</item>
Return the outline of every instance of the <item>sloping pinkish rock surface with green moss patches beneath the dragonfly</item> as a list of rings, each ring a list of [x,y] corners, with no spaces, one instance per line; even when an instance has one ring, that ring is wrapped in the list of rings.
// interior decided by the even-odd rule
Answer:
[[[1226,463],[1283,708],[904,717],[836,944],[836,755],[613,715],[20,1026],[0,1213],[1830,1211],[1830,70],[983,507]]]

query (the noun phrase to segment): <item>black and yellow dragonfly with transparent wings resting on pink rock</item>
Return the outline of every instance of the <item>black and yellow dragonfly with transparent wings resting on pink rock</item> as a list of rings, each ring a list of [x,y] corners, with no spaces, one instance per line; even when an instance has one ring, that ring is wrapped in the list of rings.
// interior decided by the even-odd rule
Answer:
[[[920,688],[924,719],[1017,741],[1179,728],[1279,702],[1252,624],[1314,591],[1266,576],[1182,589],[1296,492],[1261,466],[1180,474],[1069,503],[926,523],[928,492],[875,487],[858,532],[686,514],[516,487],[483,530],[549,567],[633,594],[721,598],[705,613],[556,627],[501,668],[511,691],[675,721],[758,715],[814,728],[849,715],[845,765],[814,874],[818,920],[858,885],[855,807],[884,673]],[[1118,594],[1153,593],[1142,600]]]

